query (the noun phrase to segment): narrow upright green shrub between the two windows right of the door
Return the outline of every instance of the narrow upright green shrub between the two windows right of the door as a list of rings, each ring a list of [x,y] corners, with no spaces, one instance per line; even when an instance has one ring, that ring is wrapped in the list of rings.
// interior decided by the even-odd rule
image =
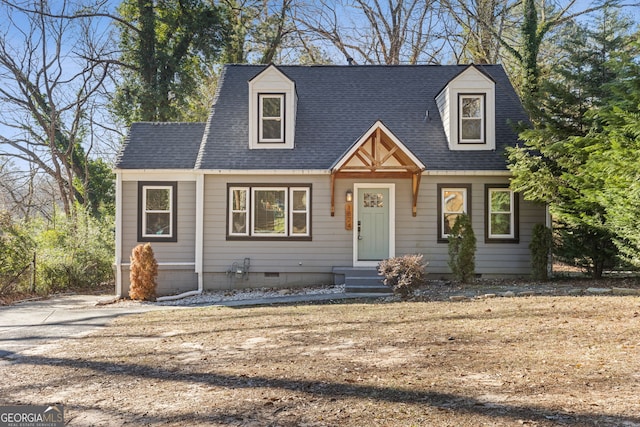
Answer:
[[[476,235],[467,214],[458,216],[449,233],[449,268],[456,280],[470,282],[476,270]]]

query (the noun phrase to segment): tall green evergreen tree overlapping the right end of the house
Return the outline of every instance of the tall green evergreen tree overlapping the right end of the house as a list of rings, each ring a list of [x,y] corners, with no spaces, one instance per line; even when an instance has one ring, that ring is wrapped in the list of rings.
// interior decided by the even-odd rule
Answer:
[[[557,255],[594,277],[613,265],[615,233],[607,206],[591,195],[603,181],[586,173],[595,141],[586,135],[599,125],[608,102],[604,88],[619,78],[612,55],[628,49],[630,22],[604,9],[595,23],[572,26],[560,47],[554,73],[540,84],[531,109],[535,128],[521,133],[522,147],[510,150],[512,188],[525,198],[550,204],[558,228]],[[533,104],[532,104],[533,105]]]

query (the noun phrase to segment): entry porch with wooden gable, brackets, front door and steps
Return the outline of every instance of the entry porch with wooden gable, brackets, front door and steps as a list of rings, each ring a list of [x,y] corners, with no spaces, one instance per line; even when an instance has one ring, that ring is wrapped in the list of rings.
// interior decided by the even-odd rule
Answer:
[[[353,181],[352,201],[345,209],[345,226],[353,233],[353,263],[333,269],[335,283],[344,283],[347,292],[389,291],[377,274],[378,263],[395,256],[395,183],[389,181],[401,179],[411,185],[415,217],[424,170],[425,165],[380,121],[332,167],[331,216],[336,180]]]

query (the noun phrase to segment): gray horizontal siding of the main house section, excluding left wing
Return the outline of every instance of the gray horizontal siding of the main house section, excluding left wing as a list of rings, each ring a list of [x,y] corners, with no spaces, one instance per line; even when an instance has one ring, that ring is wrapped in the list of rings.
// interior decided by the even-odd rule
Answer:
[[[312,241],[227,241],[227,183],[288,183],[312,185]],[[363,180],[376,182],[376,180]],[[222,176],[205,179],[204,271],[225,272],[234,262],[251,259],[252,272],[327,273],[335,266],[352,264],[352,232],[344,229],[344,194],[354,180],[339,179],[335,188],[335,216],[330,215],[330,178],[318,176]],[[437,185],[471,184],[472,219],[477,238],[476,272],[492,275],[527,275],[530,268],[529,241],[535,223],[544,223],[544,207],[520,201],[520,242],[485,243],[486,183],[503,184],[506,177],[425,176],[418,199],[418,214],[411,215],[409,180],[380,180],[396,185],[396,255],[422,253],[428,271],[448,274],[448,247],[437,242]]]

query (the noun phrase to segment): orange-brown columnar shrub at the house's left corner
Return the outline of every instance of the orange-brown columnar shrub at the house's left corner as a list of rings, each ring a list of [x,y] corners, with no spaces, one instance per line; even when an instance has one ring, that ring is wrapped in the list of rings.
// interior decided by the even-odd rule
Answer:
[[[151,243],[139,244],[131,253],[129,297],[135,300],[153,301],[156,298],[158,262]]]

